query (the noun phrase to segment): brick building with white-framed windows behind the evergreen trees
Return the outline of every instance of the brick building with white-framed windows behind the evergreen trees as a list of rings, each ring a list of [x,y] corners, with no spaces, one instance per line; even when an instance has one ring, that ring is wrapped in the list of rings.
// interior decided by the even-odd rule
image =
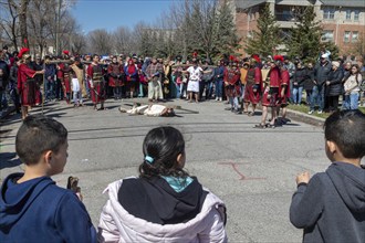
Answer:
[[[365,34],[364,0],[230,0],[230,3],[242,46],[248,38],[253,36],[260,11],[267,3],[277,19],[283,39],[295,27],[295,14],[309,6],[314,7],[316,20],[322,24],[321,41],[334,42],[340,47],[340,54],[352,54],[355,43]],[[247,54],[244,50],[240,52]]]

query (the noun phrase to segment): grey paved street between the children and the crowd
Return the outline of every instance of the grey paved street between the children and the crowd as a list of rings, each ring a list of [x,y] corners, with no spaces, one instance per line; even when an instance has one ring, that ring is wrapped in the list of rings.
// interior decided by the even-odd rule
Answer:
[[[107,183],[137,175],[146,133],[159,125],[173,125],[186,138],[186,169],[227,203],[229,242],[301,241],[302,231],[289,222],[289,205],[295,175],[302,170],[313,175],[330,163],[321,127],[293,122],[260,130],[253,128],[260,116],[234,115],[216,102],[166,103],[199,112],[176,110],[179,117],[173,118],[128,116],[118,112],[119,104],[109,101],[103,112],[94,112],[91,106],[72,108],[64,103],[44,107],[45,114],[63,123],[70,133],[69,162],[54,180],[65,186],[70,175],[80,178],[84,203],[95,225],[106,201],[102,192]],[[40,112],[34,108],[31,114]],[[19,117],[1,124],[0,180],[21,170],[14,156],[19,126]]]

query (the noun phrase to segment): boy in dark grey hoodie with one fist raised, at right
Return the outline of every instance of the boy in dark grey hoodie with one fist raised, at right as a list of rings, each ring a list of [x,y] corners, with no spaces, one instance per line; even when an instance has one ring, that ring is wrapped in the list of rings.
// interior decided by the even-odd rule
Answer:
[[[304,229],[303,242],[365,242],[365,115],[332,114],[324,123],[325,152],[332,165],[310,180],[296,177],[290,221]]]

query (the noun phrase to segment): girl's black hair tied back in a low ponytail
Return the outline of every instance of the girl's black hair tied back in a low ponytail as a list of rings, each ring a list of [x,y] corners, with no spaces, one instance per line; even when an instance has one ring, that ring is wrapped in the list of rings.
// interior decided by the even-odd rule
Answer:
[[[187,177],[182,168],[177,167],[177,156],[185,152],[181,133],[174,127],[157,127],[148,131],[143,142],[145,161],[139,166],[140,178],[159,176]],[[153,158],[153,162],[146,159]]]

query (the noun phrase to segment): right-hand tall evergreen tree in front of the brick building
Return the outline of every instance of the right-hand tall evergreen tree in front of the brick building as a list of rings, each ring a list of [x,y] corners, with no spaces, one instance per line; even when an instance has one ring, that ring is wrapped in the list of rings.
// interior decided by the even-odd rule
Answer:
[[[338,55],[338,49],[333,42],[326,42],[320,45],[322,28],[320,22],[315,21],[313,7],[306,7],[296,15],[298,23],[290,31],[290,38],[286,41],[289,56],[298,56],[303,61],[316,61],[320,47],[324,46],[331,52],[331,59]]]

